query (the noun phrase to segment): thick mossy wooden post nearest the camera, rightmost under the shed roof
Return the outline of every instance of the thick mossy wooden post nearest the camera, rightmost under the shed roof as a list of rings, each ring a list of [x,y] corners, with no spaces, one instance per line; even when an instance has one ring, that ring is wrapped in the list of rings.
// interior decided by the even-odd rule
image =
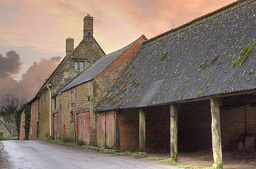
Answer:
[[[211,97],[211,115],[212,115],[212,152],[214,153],[213,168],[223,168],[221,153],[221,132],[220,132],[220,105],[223,103],[223,97]]]

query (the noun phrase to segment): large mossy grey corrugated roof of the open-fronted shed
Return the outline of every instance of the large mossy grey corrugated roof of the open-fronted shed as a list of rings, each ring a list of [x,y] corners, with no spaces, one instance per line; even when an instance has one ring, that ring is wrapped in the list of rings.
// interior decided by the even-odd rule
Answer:
[[[237,1],[144,42],[97,111],[255,89],[255,11]]]

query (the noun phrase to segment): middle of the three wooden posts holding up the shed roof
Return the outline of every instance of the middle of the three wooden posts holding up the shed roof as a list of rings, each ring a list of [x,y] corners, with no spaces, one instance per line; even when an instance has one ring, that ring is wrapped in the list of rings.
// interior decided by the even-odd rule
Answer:
[[[173,161],[178,161],[178,110],[180,103],[170,104],[170,158]]]

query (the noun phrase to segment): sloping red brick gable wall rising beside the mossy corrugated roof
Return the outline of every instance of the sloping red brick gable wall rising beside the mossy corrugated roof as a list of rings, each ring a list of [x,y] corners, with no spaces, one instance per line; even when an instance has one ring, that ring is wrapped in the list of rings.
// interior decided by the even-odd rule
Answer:
[[[121,76],[123,71],[129,65],[130,61],[138,52],[142,42],[146,41],[146,38],[141,37],[131,46],[127,51],[125,51],[118,59],[116,59],[112,64],[108,66],[102,73],[100,73],[96,78],[95,82],[95,93],[93,96],[93,104],[99,104],[99,101],[103,96],[109,91],[109,89],[116,82],[117,78]]]

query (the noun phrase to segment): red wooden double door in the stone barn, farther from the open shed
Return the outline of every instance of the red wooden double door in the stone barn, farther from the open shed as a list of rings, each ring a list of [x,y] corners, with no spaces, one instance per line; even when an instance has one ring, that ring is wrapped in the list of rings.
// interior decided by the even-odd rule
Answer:
[[[78,113],[76,116],[78,126],[78,142],[91,144],[91,125],[89,120],[90,112]]]

